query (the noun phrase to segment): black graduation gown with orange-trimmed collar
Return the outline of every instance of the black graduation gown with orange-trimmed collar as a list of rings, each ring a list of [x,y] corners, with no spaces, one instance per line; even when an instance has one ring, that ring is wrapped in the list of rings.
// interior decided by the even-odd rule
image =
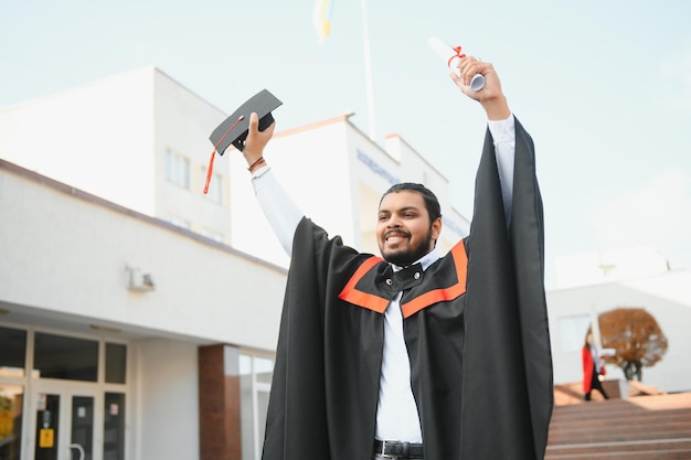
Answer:
[[[372,457],[383,311],[402,289],[411,385],[428,460],[541,459],[553,406],[542,202],[515,121],[507,231],[489,130],[470,235],[422,277],[304,218],[296,231],[263,459]],[[407,275],[406,275],[407,274]]]

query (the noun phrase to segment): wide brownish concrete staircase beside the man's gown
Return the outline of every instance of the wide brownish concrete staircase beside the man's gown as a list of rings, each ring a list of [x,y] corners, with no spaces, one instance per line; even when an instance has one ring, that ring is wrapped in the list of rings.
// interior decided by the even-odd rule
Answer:
[[[555,400],[545,460],[691,459],[691,393]]]

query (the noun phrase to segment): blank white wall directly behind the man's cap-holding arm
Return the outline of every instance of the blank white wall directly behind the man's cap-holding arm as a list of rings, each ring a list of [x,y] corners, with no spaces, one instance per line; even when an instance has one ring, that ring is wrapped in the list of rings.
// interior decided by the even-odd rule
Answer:
[[[344,243],[352,246],[357,239],[346,133],[346,124],[334,122],[289,136],[276,136],[264,157],[300,211],[331,236],[341,235]],[[285,250],[257,205],[243,156],[228,149],[223,160],[231,162],[233,246],[287,266]]]

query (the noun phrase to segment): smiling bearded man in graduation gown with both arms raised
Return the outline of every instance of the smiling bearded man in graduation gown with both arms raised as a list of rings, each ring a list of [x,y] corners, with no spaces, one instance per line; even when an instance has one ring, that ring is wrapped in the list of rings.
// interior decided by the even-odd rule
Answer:
[[[417,184],[382,197],[382,257],[329,237],[262,157],[274,125],[251,117],[243,154],[291,255],[265,460],[544,457],[553,388],[533,142],[490,63],[459,69],[488,132],[470,234],[443,257],[438,202]],[[478,73],[486,86],[472,92]]]

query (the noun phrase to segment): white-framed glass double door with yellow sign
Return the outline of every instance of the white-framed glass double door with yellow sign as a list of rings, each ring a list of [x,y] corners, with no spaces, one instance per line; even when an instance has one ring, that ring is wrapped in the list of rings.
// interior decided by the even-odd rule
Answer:
[[[34,437],[29,459],[96,460],[94,428],[100,405],[95,393],[47,385],[32,393]]]

